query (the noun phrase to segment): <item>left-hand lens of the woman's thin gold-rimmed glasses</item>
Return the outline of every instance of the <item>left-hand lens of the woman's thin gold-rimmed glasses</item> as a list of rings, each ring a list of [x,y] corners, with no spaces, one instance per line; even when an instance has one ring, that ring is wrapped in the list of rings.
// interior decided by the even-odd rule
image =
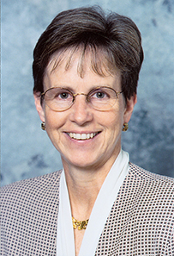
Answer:
[[[72,103],[73,94],[67,89],[55,87],[45,92],[45,104],[52,110],[69,109]]]

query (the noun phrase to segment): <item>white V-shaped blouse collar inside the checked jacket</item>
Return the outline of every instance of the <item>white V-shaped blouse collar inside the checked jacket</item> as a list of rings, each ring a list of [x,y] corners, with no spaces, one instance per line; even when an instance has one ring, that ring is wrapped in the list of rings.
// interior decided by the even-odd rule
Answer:
[[[129,172],[129,153],[120,151],[99,195],[94,203],[92,213],[87,224],[79,256],[94,255],[100,234],[105,226],[111,207],[116,200],[117,192]],[[75,239],[71,219],[69,192],[65,181],[64,171],[60,179],[59,211],[57,222],[57,256],[75,256]],[[96,228],[97,227],[97,228]],[[90,246],[89,246],[90,245]]]

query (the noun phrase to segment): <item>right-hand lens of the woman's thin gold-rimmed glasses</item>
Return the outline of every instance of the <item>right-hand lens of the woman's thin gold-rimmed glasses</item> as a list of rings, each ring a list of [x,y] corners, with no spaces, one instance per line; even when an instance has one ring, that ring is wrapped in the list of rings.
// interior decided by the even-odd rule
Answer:
[[[109,110],[117,101],[117,92],[108,87],[100,87],[89,92],[88,101],[93,109]]]

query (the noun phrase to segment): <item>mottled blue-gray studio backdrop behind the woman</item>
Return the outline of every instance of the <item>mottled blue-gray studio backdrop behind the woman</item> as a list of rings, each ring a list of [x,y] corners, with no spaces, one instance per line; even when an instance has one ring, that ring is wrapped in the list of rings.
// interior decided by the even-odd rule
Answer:
[[[99,0],[129,16],[141,30],[145,60],[138,103],[123,133],[130,159],[174,177],[174,1]],[[2,185],[61,168],[59,153],[40,129],[33,103],[33,47],[52,18],[81,0],[2,1]],[[87,6],[87,5],[86,5]]]

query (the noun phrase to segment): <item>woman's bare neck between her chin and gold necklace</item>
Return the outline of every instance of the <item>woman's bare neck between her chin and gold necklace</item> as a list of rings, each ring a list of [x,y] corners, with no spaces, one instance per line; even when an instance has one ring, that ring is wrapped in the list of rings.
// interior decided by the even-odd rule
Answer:
[[[72,166],[63,160],[71,212],[75,219],[82,221],[90,217],[93,204],[114,160],[95,170]]]

